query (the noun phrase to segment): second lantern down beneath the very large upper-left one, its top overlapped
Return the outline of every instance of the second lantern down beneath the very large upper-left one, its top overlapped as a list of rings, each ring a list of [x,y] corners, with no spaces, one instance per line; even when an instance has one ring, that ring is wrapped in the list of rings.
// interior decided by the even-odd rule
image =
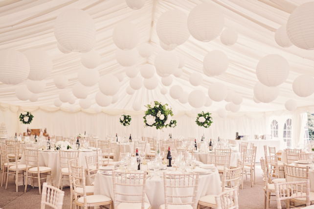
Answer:
[[[84,86],[91,87],[98,83],[99,79],[100,76],[97,69],[87,69],[82,67],[78,71],[78,80]]]

